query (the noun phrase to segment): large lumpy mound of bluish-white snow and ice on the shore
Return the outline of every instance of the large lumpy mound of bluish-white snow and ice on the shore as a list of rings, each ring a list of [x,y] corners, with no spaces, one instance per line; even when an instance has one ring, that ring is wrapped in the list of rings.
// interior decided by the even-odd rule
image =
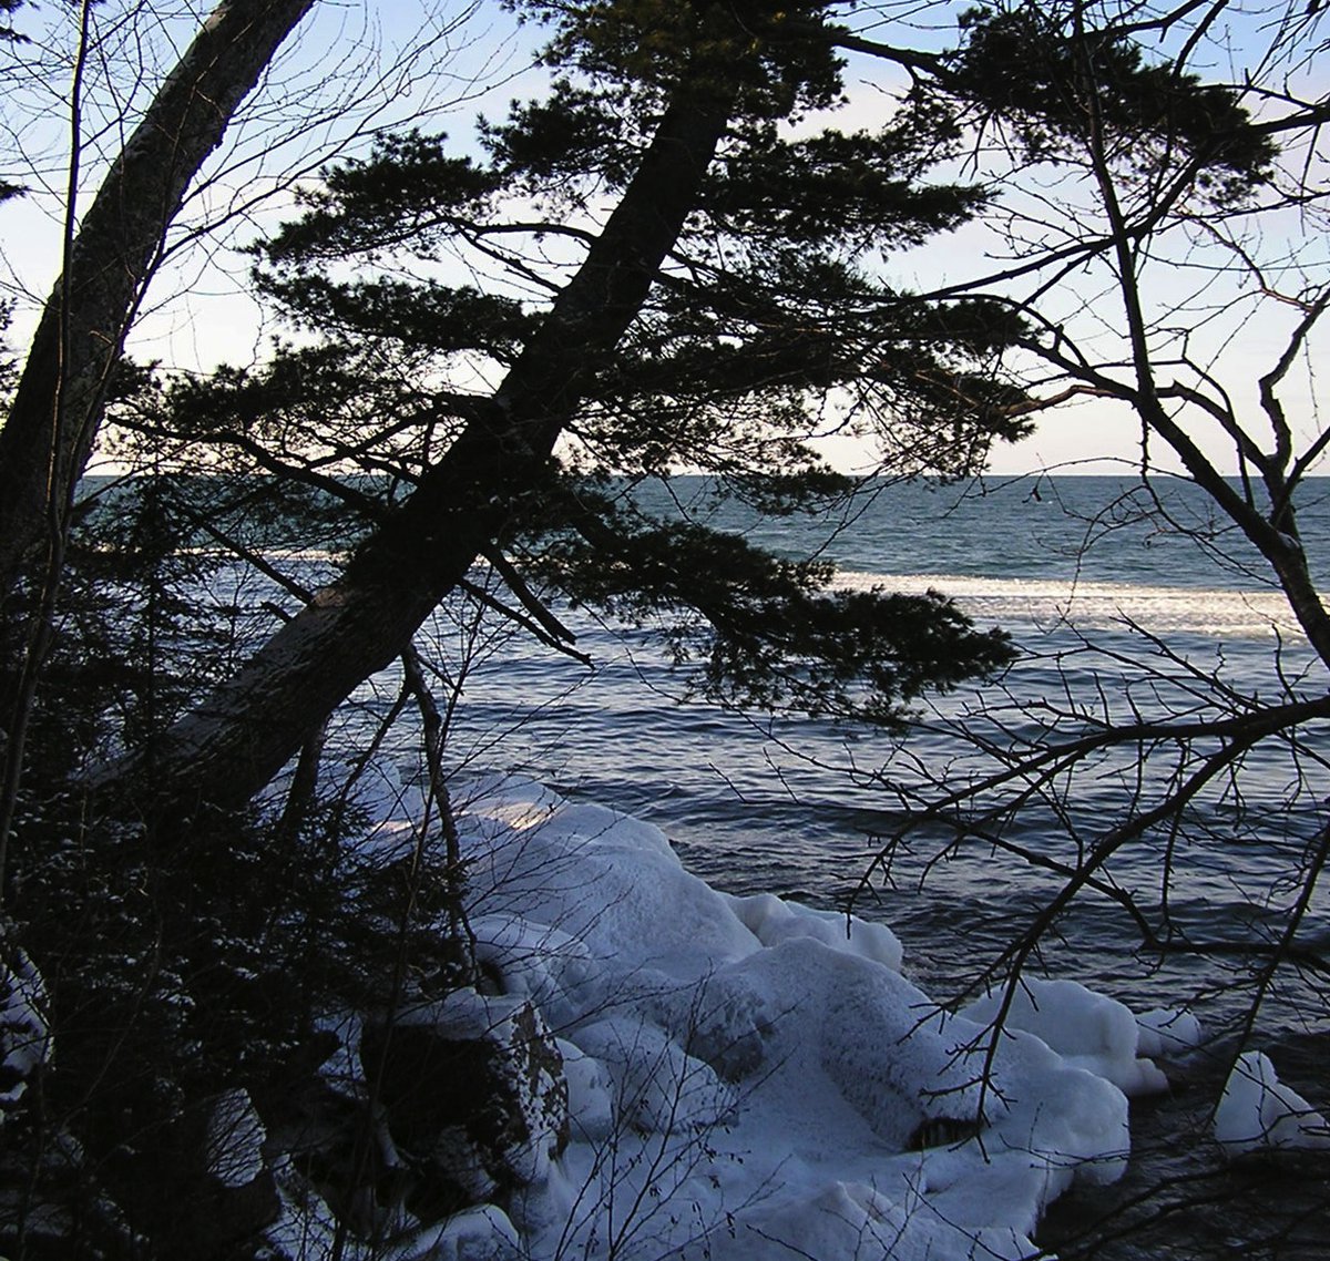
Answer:
[[[887,927],[718,893],[645,822],[525,781],[454,802],[477,958],[556,1039],[569,1140],[400,1257],[1015,1261],[1053,1198],[1121,1176],[1150,1056],[1200,1042],[1035,979],[998,1030],[1000,994],[946,1012]],[[411,809],[394,787],[371,843]]]

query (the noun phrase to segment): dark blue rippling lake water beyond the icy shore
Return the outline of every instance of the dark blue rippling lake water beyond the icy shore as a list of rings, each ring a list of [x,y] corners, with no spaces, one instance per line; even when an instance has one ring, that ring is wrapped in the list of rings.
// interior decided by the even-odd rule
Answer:
[[[847,585],[935,587],[978,623],[1008,629],[1021,657],[1001,680],[927,702],[912,729],[892,737],[743,717],[689,698],[650,628],[564,611],[595,666],[507,632],[481,644],[450,737],[452,764],[516,768],[652,819],[693,871],[722,889],[829,907],[853,895],[861,914],[898,931],[907,967],[939,996],[962,990],[1060,885],[990,843],[947,850],[952,834],[936,826],[910,838],[891,882],[863,883],[907,799],[918,805],[994,770],[975,740],[1031,752],[1100,721],[1216,718],[1238,704],[1233,697],[1275,702],[1326,686],[1260,557],[1181,483],[894,486],[815,519],[778,521],[717,500],[702,479],[677,479],[669,497],[637,493],[791,556],[819,551]],[[1330,556],[1330,495],[1309,500],[1307,551]],[[464,628],[444,617],[438,633],[455,660]],[[1222,954],[1140,950],[1132,916],[1087,893],[1032,966],[1137,1007],[1190,1003],[1217,1024],[1237,1020],[1262,956],[1236,947],[1266,948],[1278,936],[1330,790],[1319,762],[1330,740],[1323,730],[1303,736],[1305,748],[1258,750],[1240,775],[1202,794],[1172,851],[1154,831],[1107,867],[1156,926],[1172,926],[1174,942],[1221,940]],[[1133,746],[1057,778],[1001,822],[1000,839],[1075,866],[1138,791],[1153,801],[1182,765],[1174,745],[1148,752],[1144,771]],[[1327,935],[1318,895],[1299,942],[1319,948]],[[1290,975],[1262,1018],[1271,1035],[1322,1016],[1315,987]]]

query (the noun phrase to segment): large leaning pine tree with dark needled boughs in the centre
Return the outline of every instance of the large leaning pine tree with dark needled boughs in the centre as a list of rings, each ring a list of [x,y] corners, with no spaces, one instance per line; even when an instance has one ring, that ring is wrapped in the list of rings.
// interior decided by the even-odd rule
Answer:
[[[896,722],[1007,660],[944,600],[829,591],[822,564],[646,520],[602,480],[689,467],[806,509],[835,480],[806,442],[829,406],[895,474],[964,474],[1023,431],[995,371],[1019,322],[866,266],[983,205],[924,182],[950,120],[791,137],[842,90],[834,5],[527,8],[555,24],[549,98],[485,125],[483,160],[410,133],[327,172],[263,247],[265,290],[318,345],[182,386],[156,422],[306,480],[390,475],[348,509],[372,528],[344,577],[160,742],[158,802],[246,799],[480,555],[620,612],[682,611],[681,656],[742,702]],[[540,274],[519,239],[548,247]],[[501,283],[438,275],[463,249]],[[497,388],[459,384],[476,372]],[[112,778],[142,783],[133,762]]]

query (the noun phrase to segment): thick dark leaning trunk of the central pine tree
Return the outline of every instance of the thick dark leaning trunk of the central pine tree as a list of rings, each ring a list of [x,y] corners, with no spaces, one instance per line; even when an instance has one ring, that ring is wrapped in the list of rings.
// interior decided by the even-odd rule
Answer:
[[[243,805],[306,733],[387,666],[504,523],[540,493],[564,426],[641,310],[725,133],[733,89],[676,92],[637,173],[496,394],[344,577],[319,592],[207,701],[96,777],[120,809],[164,821]]]

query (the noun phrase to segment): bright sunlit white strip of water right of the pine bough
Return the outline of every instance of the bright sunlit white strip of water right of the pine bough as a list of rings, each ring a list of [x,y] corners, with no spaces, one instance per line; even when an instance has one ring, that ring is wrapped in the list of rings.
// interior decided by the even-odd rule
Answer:
[[[1218,638],[1291,638],[1302,630],[1277,591],[1200,589],[1064,579],[995,579],[968,573],[862,573],[843,571],[842,591],[884,587],[906,595],[938,591],[978,621],[1120,629],[1134,624],[1156,633],[1186,632]]]

